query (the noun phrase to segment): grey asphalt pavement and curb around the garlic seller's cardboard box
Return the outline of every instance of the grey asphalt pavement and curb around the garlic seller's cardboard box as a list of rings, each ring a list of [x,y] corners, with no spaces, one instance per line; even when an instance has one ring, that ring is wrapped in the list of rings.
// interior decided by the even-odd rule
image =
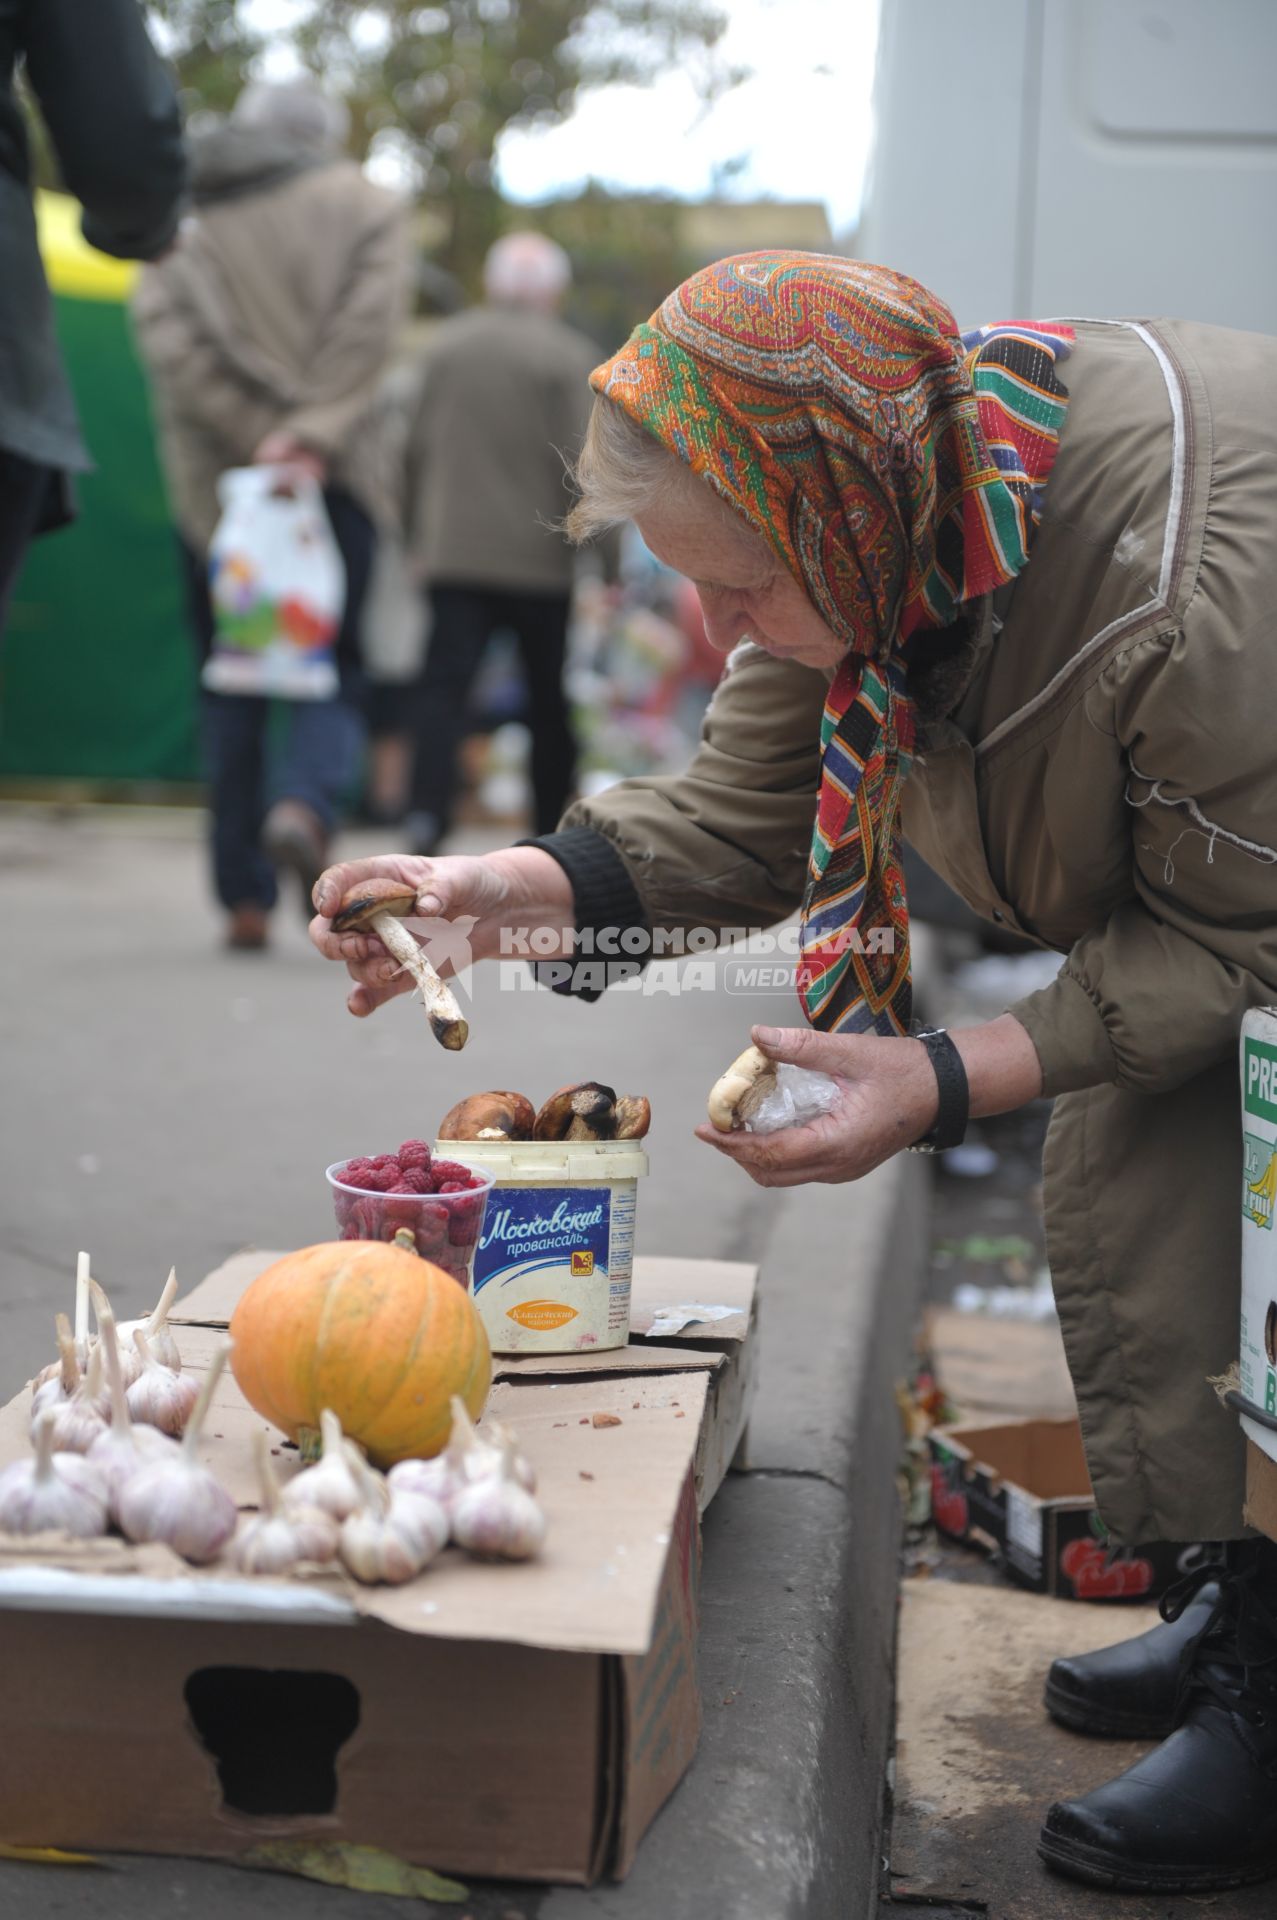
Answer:
[[[351,835],[344,851],[386,845]],[[459,851],[482,845],[495,841],[470,835]],[[200,814],[0,808],[0,879],[4,1394],[48,1357],[79,1248],[117,1309],[138,1313],[173,1263],[194,1284],[236,1248],[328,1236],[325,1165],[430,1137],[463,1092],[520,1087],[543,1098],[563,1081],[601,1079],[649,1094],[639,1250],[762,1267],[749,1471],[726,1482],[705,1526],[701,1751],[622,1885],[476,1887],[469,1907],[436,1912],[868,1912],[895,1636],[891,1392],[922,1271],[926,1188],[903,1156],[856,1187],[764,1192],[691,1137],[751,1021],[799,1023],[791,995],[726,991],[716,966],[712,987],[586,1006],[490,966],[472,977],[470,1043],[451,1056],[409,1000],[369,1021],[346,1014],[344,973],[309,947],[294,897],[267,954],[225,952]],[[0,1864],[4,1920],[403,1910],[184,1859]]]

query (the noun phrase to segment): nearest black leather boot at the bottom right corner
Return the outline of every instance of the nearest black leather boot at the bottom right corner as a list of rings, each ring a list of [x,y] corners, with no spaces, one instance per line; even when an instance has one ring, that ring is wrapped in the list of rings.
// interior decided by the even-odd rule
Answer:
[[[1208,1576],[1202,1569],[1168,1601],[1183,1607],[1185,1590]],[[1183,1690],[1169,1740],[1085,1799],[1050,1809],[1037,1849],[1047,1866],[1129,1893],[1206,1893],[1277,1876],[1277,1546],[1229,1548]]]

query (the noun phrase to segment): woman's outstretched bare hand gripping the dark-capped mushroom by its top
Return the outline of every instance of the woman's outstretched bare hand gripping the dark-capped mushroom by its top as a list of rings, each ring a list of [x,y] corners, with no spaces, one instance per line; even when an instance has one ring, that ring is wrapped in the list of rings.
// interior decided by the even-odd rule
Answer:
[[[367,879],[398,879],[417,889],[422,922],[434,922],[417,935],[440,973],[453,973],[470,960],[488,960],[503,950],[503,933],[549,929],[536,945],[538,958],[570,952],[574,927],[572,885],[540,847],[505,847],[482,856],[453,854],[426,860],[417,854],[378,854],[330,866],[315,881],[311,941],[325,960],[344,960],[355,981],[346,998],[349,1012],[363,1020],[386,1000],[413,991],[405,973],[382,943],[369,933],[334,933],[332,914],[351,887]],[[557,945],[555,945],[557,941]]]

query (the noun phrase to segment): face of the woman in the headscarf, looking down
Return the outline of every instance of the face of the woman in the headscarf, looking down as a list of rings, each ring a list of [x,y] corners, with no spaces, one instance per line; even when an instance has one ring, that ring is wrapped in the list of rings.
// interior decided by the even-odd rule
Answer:
[[[691,580],[705,637],[720,653],[755,639],[780,660],[826,668],[847,653],[766,541],[734,526],[716,499],[699,505],[680,495],[678,505],[643,515],[638,530],[659,561]]]

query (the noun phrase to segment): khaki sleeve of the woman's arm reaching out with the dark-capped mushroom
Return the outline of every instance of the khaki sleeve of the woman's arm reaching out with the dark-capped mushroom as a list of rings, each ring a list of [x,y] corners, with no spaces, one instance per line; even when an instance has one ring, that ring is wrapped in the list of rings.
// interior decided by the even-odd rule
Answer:
[[[739,647],[687,770],[607,787],[563,826],[611,841],[653,927],[783,920],[807,877],[826,685],[810,666]]]

